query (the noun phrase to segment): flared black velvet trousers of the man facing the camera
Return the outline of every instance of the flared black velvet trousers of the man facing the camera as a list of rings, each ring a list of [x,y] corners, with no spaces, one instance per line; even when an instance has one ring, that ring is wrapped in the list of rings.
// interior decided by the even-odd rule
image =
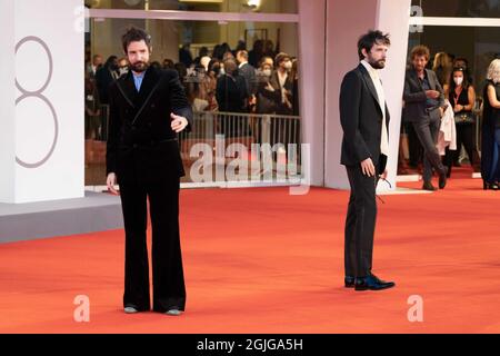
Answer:
[[[153,310],[186,307],[186,286],[179,236],[179,178],[156,184],[120,184],[126,229],[123,306],[150,310],[149,261],[146,239],[147,198],[152,227]]]

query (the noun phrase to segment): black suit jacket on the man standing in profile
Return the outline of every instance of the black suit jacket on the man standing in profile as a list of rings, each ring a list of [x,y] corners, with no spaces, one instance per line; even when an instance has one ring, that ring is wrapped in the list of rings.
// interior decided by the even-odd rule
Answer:
[[[386,125],[390,115],[386,105]],[[379,172],[386,170],[387,157],[380,154],[383,113],[377,89],[363,65],[351,70],[340,89],[340,123],[343,129],[341,164],[358,166],[371,158]]]

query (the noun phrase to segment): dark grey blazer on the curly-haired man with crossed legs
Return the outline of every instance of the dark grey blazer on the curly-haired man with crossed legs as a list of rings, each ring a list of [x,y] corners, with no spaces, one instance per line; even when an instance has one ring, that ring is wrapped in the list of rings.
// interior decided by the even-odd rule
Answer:
[[[444,91],[442,90],[436,73],[429,69],[426,69],[426,71],[431,90],[437,90],[441,93],[441,96],[437,99],[439,101],[439,106],[430,112],[426,110],[427,95],[422,88],[422,83],[420,82],[417,71],[414,69],[407,70],[403,92],[403,118],[407,122],[418,122],[428,117],[434,120],[441,118],[439,107],[444,106]]]

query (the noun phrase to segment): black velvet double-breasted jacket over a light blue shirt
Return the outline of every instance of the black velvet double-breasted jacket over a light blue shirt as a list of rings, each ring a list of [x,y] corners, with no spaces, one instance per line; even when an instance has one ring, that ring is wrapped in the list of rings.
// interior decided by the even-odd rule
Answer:
[[[132,72],[110,87],[107,172],[118,181],[161,181],[184,175],[170,113],[188,119],[192,109],[174,70],[148,68],[138,92]]]

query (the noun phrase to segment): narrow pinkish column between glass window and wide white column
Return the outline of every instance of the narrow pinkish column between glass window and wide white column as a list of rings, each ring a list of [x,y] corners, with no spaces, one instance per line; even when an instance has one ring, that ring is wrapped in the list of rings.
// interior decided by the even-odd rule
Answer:
[[[312,186],[323,186],[324,169],[324,30],[327,0],[299,1],[299,80],[302,142],[310,145]],[[331,63],[328,63],[330,66]],[[306,159],[303,157],[302,159]]]

